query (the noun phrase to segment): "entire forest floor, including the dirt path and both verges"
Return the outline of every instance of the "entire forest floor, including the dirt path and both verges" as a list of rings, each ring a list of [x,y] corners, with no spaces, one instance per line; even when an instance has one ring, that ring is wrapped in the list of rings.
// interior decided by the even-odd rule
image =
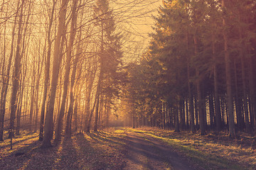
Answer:
[[[0,142],[0,169],[256,169],[253,137],[200,136],[156,128],[77,133],[41,149],[38,133]]]

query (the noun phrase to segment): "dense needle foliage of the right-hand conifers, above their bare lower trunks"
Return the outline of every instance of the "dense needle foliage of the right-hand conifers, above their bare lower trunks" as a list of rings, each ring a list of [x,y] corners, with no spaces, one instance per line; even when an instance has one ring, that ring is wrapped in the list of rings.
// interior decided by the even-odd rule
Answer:
[[[196,101],[198,82],[206,100],[214,93],[215,64],[218,93],[226,96],[224,30],[228,34],[230,64],[238,64],[238,68],[231,70],[235,89],[237,73],[241,72],[238,62],[241,55],[247,56],[246,64],[255,55],[254,1],[227,1],[223,8],[221,1],[215,0],[168,0],[163,1],[159,15],[154,18],[155,33],[151,34],[149,49],[129,72],[128,91],[137,113],[150,120],[155,115],[156,119],[161,117],[163,103],[167,108],[177,109],[177,103],[189,97],[188,84]],[[255,61],[254,57],[253,66]],[[250,79],[249,74],[245,79]],[[255,76],[251,81],[255,84]],[[201,107],[206,107],[206,102]]]

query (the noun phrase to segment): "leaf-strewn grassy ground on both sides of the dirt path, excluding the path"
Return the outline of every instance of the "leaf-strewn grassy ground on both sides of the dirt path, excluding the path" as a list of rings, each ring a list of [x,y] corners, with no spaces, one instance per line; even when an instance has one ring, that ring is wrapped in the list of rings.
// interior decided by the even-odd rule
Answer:
[[[137,132],[166,142],[195,165],[204,169],[256,169],[256,154],[252,140],[246,134],[230,140],[225,132],[208,133],[174,132],[157,128],[108,128],[90,134],[78,133],[60,145],[41,149],[38,133],[21,132],[10,140],[0,142],[0,169],[123,169],[125,166],[125,137]],[[17,156],[17,153],[23,153]]]

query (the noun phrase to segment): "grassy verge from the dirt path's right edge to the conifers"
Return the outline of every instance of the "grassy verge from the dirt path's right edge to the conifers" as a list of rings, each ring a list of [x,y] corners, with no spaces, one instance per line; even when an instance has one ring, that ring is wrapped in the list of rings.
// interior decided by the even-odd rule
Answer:
[[[242,147],[225,136],[200,136],[190,132],[174,132],[156,128],[127,129],[162,140],[184,154],[193,164],[204,169],[256,169],[255,150]],[[221,140],[222,139],[222,140]]]

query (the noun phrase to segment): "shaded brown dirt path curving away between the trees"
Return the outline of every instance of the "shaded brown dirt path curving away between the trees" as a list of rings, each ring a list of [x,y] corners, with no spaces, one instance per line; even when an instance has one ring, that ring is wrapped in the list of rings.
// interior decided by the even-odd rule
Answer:
[[[134,169],[193,170],[188,161],[154,137],[139,132],[127,132],[127,166]],[[196,168],[197,169],[197,168]]]

